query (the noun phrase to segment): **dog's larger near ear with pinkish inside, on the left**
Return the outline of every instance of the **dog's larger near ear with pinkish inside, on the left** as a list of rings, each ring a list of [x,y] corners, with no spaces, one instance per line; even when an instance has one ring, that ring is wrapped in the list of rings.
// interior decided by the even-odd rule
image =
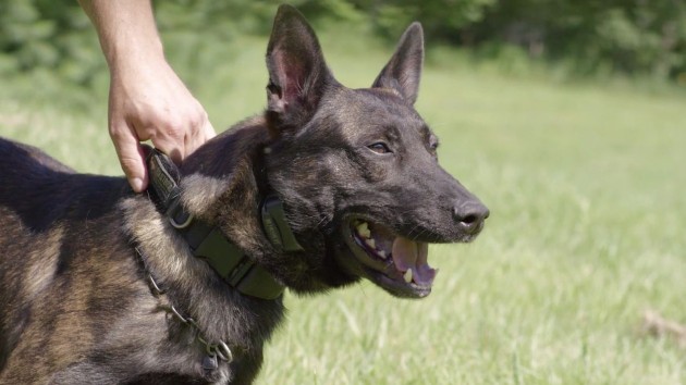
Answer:
[[[307,123],[333,77],[315,32],[293,7],[279,7],[267,48],[267,111],[277,119],[278,128]]]

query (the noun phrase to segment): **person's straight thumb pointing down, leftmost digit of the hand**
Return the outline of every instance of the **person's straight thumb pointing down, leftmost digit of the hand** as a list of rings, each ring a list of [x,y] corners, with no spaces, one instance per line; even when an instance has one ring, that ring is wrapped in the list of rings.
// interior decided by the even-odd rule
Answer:
[[[145,166],[145,152],[133,129],[127,125],[113,127],[110,136],[114,142],[119,163],[135,192],[148,187],[148,172]]]

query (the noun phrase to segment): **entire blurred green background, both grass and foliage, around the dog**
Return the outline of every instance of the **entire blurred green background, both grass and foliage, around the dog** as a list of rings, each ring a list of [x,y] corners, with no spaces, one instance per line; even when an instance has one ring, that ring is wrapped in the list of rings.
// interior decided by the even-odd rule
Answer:
[[[278,2],[154,3],[215,127],[260,113]],[[289,294],[259,383],[686,383],[684,1],[291,3],[350,87],[422,23],[416,108],[491,218],[471,245],[431,247],[440,274],[421,301],[368,283]],[[0,2],[1,136],[121,175],[108,83],[75,0]]]

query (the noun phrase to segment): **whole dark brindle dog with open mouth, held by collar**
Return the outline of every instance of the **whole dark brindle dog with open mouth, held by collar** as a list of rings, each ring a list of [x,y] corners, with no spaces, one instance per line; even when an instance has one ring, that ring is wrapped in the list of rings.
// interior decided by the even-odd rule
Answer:
[[[0,383],[248,384],[284,287],[429,295],[428,244],[473,240],[489,211],[413,107],[422,61],[414,23],[346,88],[282,5],[266,112],[179,169],[150,152],[148,194],[0,140]]]

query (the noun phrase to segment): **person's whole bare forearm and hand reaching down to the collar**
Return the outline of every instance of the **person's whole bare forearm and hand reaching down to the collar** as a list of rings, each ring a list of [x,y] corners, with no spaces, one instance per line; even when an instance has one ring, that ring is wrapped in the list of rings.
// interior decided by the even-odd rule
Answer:
[[[93,21],[110,67],[109,129],[136,192],[148,186],[140,141],[176,164],[215,128],[200,103],[164,60],[149,0],[78,0]]]

